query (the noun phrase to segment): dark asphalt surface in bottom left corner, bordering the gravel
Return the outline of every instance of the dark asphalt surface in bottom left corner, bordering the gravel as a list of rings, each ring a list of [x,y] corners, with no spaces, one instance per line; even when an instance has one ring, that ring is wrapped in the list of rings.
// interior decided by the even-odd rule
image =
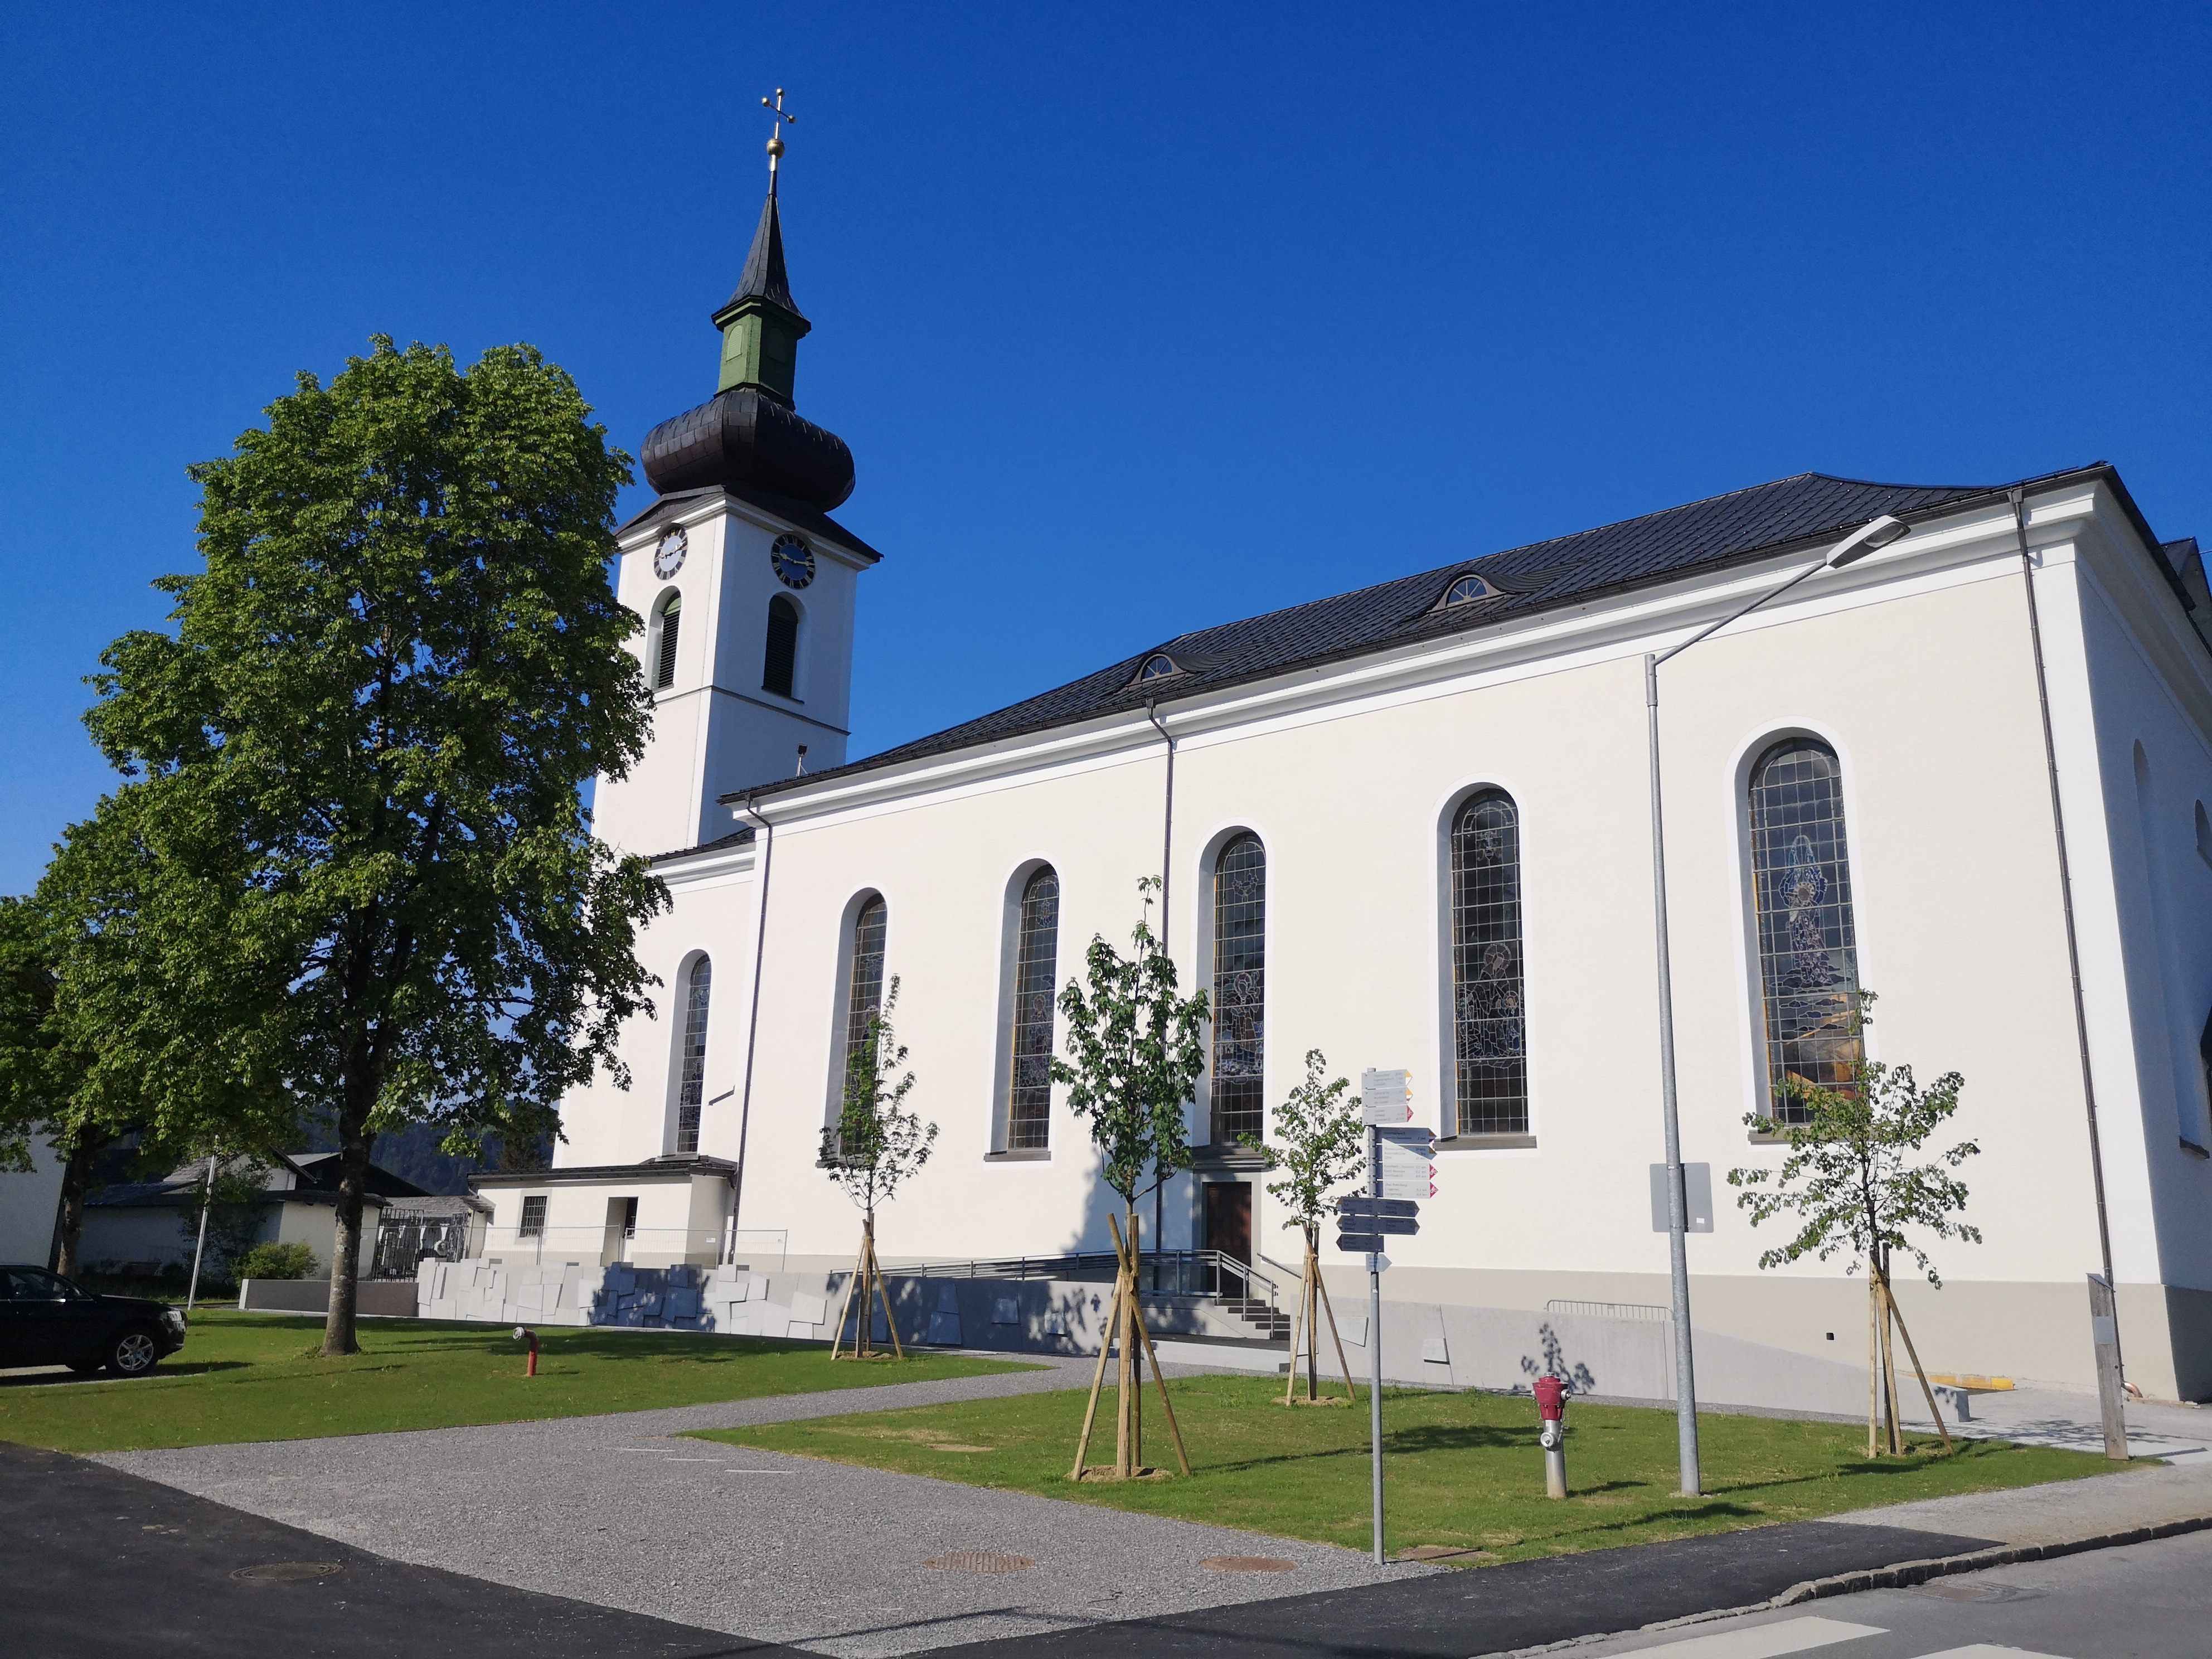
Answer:
[[[467,1531],[473,1520],[467,1511],[420,1517],[429,1531]],[[0,1652],[796,1659],[794,1648],[405,1566],[84,1458],[7,1442]]]

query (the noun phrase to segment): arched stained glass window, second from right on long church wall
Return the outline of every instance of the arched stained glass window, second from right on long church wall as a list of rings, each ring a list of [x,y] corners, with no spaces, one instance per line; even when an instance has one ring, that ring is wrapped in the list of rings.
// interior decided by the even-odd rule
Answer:
[[[1451,821],[1451,1044],[1455,1133],[1526,1135],[1520,810],[1502,790]]]

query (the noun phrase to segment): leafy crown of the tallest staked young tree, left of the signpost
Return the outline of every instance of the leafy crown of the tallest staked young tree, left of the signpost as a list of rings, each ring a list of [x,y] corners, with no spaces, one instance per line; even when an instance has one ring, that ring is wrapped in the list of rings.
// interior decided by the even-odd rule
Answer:
[[[1093,936],[1086,984],[1071,980],[1060,991],[1068,1057],[1053,1060],[1053,1082],[1066,1086],[1068,1110],[1088,1121],[1130,1230],[1137,1194],[1150,1190],[1146,1175],[1157,1188],[1190,1168],[1183,1108],[1206,1073],[1206,993],[1177,995],[1175,962],[1152,936],[1155,891],[1159,878],[1137,883],[1144,914],[1128,956]]]

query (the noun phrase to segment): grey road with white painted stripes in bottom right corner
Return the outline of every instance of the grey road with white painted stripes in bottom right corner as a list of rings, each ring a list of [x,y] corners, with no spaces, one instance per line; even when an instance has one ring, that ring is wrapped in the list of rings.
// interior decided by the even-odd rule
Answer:
[[[1555,1659],[2203,1659],[2212,1533],[1867,1590]]]

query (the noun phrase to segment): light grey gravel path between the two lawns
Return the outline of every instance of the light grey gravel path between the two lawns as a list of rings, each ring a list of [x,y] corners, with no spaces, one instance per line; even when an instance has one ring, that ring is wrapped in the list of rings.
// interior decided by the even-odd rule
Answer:
[[[602,1418],[124,1451],[100,1462],[392,1559],[849,1659],[1438,1571],[1376,1568],[1327,1544],[672,1438],[1084,1383],[1088,1363],[1060,1363]],[[958,1551],[1033,1566],[927,1566]],[[1290,1571],[1201,1566],[1254,1555]]]

